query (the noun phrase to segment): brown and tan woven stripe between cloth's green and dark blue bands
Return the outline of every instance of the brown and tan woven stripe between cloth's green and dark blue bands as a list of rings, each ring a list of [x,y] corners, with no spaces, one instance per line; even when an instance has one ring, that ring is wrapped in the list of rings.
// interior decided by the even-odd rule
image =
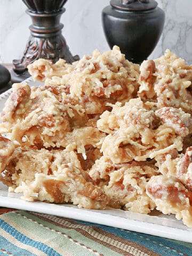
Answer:
[[[87,238],[92,239],[95,242],[98,242],[113,251],[121,253],[122,255],[135,255],[135,256],[160,256],[160,254],[147,249],[145,246],[142,246],[138,243],[132,242],[128,239],[121,238],[117,235],[106,232],[105,230],[100,229],[95,226],[85,226],[81,225],[78,222],[67,219],[67,218],[58,218],[53,215],[41,214],[41,213],[30,213],[37,218],[41,218],[45,221],[49,221],[53,225],[70,229],[73,228],[77,230],[82,235]],[[130,253],[130,254],[127,254]]]

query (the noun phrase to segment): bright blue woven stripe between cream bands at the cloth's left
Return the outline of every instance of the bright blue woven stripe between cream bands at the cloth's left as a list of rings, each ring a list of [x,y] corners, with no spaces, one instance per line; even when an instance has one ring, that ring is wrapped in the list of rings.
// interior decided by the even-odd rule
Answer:
[[[19,242],[29,245],[31,247],[34,247],[34,248],[38,249],[39,251],[46,253],[47,255],[62,256],[61,254],[59,254],[58,252],[53,250],[50,246],[47,246],[46,244],[35,241],[35,240],[23,235],[17,229],[13,228],[7,222],[5,222],[4,220],[1,220],[1,219],[0,219],[0,228],[2,228],[4,231],[9,233],[11,236],[13,236]]]

